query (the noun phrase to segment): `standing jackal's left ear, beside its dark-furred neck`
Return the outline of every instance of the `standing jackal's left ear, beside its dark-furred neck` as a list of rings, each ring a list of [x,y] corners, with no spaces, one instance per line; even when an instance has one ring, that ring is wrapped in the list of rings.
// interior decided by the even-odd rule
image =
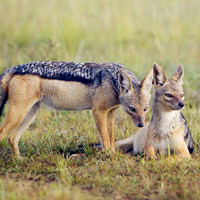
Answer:
[[[121,92],[127,93],[131,89],[132,85],[128,74],[124,70],[121,70],[119,72],[118,80],[120,85],[120,93]]]

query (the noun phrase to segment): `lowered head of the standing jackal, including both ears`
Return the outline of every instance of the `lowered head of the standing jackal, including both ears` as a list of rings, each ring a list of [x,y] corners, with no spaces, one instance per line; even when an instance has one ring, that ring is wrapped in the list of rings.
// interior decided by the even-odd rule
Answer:
[[[152,79],[152,70],[137,84],[133,83],[124,70],[119,73],[119,100],[122,108],[131,116],[137,127],[143,127],[145,124],[145,115],[151,99]]]

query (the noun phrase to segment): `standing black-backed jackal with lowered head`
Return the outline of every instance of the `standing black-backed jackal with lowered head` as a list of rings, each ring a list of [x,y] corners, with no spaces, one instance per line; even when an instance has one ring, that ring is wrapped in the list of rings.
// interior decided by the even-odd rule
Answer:
[[[32,62],[7,69],[0,76],[0,112],[9,109],[0,128],[0,141],[11,133],[14,155],[18,141],[35,118],[41,103],[57,110],[92,109],[104,150],[114,146],[114,114],[121,104],[135,125],[144,126],[152,87],[152,71],[140,81],[114,63]]]

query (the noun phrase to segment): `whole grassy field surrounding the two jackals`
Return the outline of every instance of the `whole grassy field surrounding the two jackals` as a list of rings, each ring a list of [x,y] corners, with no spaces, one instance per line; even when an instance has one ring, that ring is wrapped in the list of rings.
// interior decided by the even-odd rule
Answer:
[[[90,111],[42,108],[20,141],[25,160],[0,144],[0,200],[200,199],[199,0],[0,0],[0,70],[36,60],[116,62],[143,78],[154,62],[184,65],[190,161],[146,161],[95,152]],[[151,116],[149,113],[148,118]],[[119,109],[116,138],[136,127]],[[85,156],[70,159],[83,145]]]

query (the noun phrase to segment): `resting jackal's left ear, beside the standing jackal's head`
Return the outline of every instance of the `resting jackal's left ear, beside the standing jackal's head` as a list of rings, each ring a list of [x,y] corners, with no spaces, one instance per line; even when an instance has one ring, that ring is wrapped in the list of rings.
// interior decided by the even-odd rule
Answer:
[[[154,84],[154,88],[158,88],[164,85],[164,83],[166,83],[167,80],[167,76],[165,74],[165,72],[161,69],[161,67],[159,67],[158,64],[154,64],[153,65],[153,84]]]

